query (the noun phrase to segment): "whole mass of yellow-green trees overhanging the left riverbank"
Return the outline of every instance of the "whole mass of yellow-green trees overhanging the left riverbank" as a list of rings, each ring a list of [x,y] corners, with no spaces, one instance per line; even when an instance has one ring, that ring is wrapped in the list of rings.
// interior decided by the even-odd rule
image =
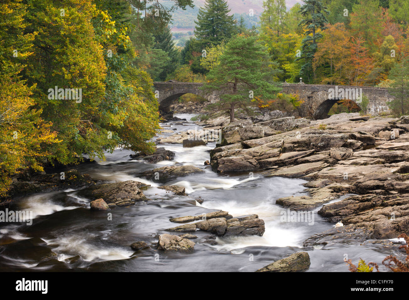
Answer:
[[[174,0],[171,8],[156,0],[0,3],[2,196],[14,173],[42,170],[44,163],[77,163],[84,154],[103,159],[116,147],[154,151],[149,140],[160,129],[159,113],[147,70],[163,78],[176,68],[170,12],[192,3]],[[81,89],[81,101],[64,93],[55,98],[50,89],[56,86]]]

